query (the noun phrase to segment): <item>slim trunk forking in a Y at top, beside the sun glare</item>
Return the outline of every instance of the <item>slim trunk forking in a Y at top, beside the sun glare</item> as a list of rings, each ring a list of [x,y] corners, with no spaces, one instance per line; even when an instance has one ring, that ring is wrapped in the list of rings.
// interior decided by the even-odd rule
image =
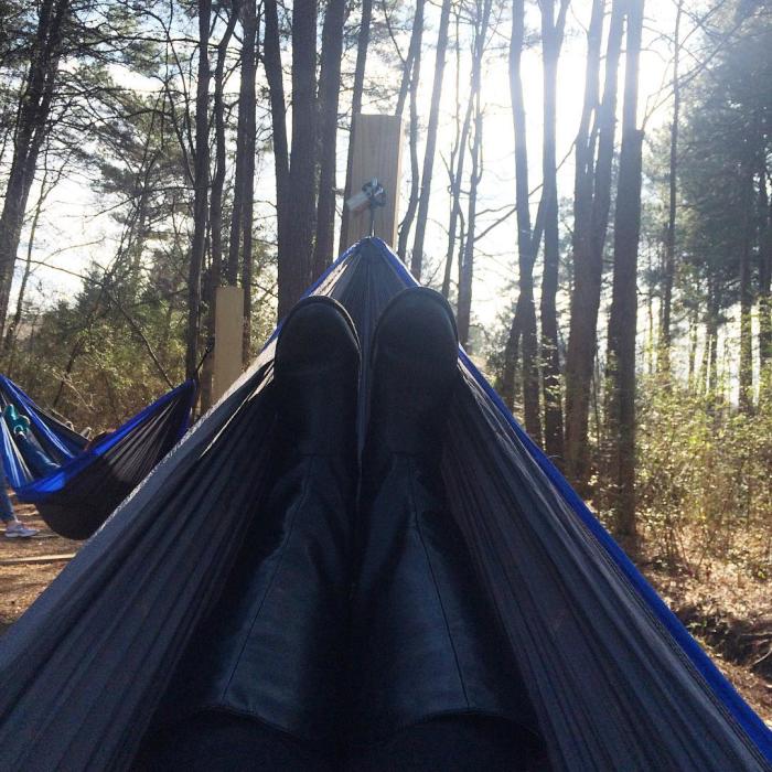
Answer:
[[[544,60],[544,272],[542,276],[542,375],[544,396],[544,443],[547,455],[561,463],[562,399],[556,296],[560,267],[557,191],[557,76],[569,0],[561,0],[557,20],[554,0],[542,3],[542,51]]]

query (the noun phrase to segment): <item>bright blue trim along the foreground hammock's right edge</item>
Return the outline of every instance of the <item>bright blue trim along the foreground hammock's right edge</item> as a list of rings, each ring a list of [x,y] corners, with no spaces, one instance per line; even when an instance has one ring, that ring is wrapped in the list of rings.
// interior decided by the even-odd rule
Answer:
[[[407,269],[405,264],[388,248],[379,238],[373,238],[373,243],[380,249],[388,264],[399,275],[408,286],[417,286],[418,281]],[[754,710],[738,694],[737,689],[725,678],[723,674],[716,667],[710,657],[703,651],[703,647],[695,641],[689,631],[682,624],[680,620],[671,611],[668,605],[660,598],[656,590],[646,581],[641,571],[635,568],[632,560],[624,554],[622,548],[614,542],[611,534],[603,527],[600,521],[592,514],[581,497],[570,486],[566,478],[559,472],[557,467],[549,460],[546,453],[528,437],[525,429],[521,427],[502,398],[496,394],[493,386],[485,379],[482,373],[475,367],[464,350],[459,346],[459,357],[467,369],[485,392],[498,412],[512,427],[517,438],[523,442],[530,457],[536,461],[542,471],[549,478],[564,501],[580,517],[582,523],[589,528],[592,535],[600,542],[601,546],[616,564],[622,573],[628,578],[641,598],[646,601],[655,616],[662,622],[684,653],[689,657],[694,666],[699,671],[716,696],[723,703],[737,722],[744,729],[746,733],[753,740],[761,753],[768,761],[772,762],[772,731],[757,716]]]

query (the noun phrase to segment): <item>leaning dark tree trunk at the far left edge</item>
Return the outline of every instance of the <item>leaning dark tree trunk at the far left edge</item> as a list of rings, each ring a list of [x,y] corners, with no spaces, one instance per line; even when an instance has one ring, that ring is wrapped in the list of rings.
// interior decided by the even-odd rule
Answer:
[[[6,326],[26,201],[47,131],[62,54],[62,26],[68,12],[68,0],[43,0],[39,10],[37,31],[19,105],[13,158],[0,214],[0,332]]]

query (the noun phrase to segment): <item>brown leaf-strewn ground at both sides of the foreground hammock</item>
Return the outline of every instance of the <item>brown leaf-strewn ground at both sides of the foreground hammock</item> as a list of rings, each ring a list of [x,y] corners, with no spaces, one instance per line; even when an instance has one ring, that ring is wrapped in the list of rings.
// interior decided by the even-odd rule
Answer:
[[[15,505],[25,524],[40,528],[30,539],[0,536],[0,634],[66,566],[65,556],[83,542],[52,533],[32,505]],[[36,559],[36,560],[35,560]],[[772,592],[769,581],[753,581],[714,565],[699,579],[644,566],[646,578],[708,651],[738,691],[772,727]]]

